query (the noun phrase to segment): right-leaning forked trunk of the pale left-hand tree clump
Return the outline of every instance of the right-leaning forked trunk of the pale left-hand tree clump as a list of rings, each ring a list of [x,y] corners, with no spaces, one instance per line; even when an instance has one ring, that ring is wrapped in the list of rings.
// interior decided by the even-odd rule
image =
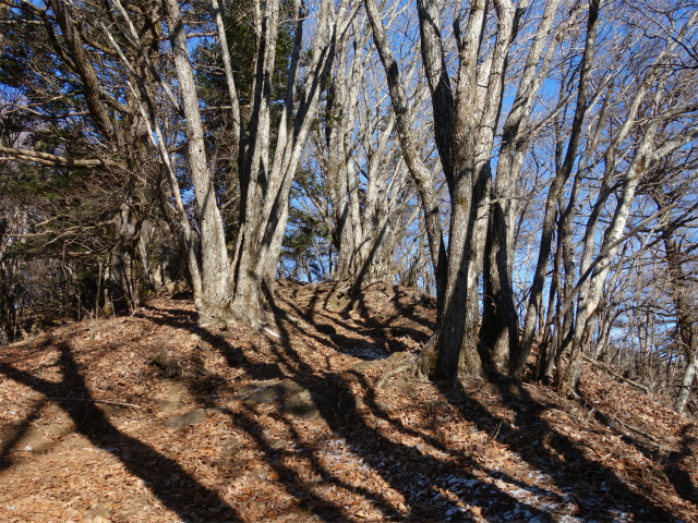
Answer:
[[[300,1],[297,1],[297,36],[303,20]],[[243,230],[241,247],[236,259],[232,280],[232,314],[252,325],[265,323],[265,303],[273,296],[274,279],[281,251],[284,230],[288,220],[291,183],[308,136],[312,118],[317,109],[320,89],[336,53],[337,38],[346,37],[347,25],[356,14],[356,8],[341,2],[337,13],[323,1],[315,31],[314,53],[304,78],[304,90],[296,107],[297,68],[300,46],[291,57],[286,111],[281,118],[273,166],[269,165],[270,75],[274,70],[274,49],[278,34],[278,5],[265,4],[264,13],[257,2],[255,21],[258,42],[255,58],[252,115],[249,132],[241,150],[243,161],[242,207]],[[263,179],[264,186],[258,182]]]

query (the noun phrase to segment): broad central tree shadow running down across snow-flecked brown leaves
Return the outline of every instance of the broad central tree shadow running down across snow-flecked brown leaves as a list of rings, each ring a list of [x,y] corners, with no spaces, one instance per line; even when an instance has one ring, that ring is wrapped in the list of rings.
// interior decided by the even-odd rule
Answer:
[[[297,328],[297,327],[294,327]],[[290,340],[292,335],[284,330],[284,339]],[[317,401],[316,405],[323,419],[332,429],[336,437],[341,438],[357,452],[365,464],[373,469],[394,490],[404,496],[409,504],[409,512],[402,515],[407,521],[420,521],[428,518],[456,518],[470,519],[465,509],[465,503],[478,503],[478,496],[488,490],[489,497],[496,498],[496,511],[504,513],[507,511],[528,512],[533,516],[546,520],[546,514],[540,509],[528,506],[517,500],[495,485],[490,485],[476,477],[467,469],[479,469],[486,475],[492,475],[492,471],[484,471],[473,463],[472,460],[454,454],[442,442],[432,438],[424,438],[433,447],[444,452],[446,455],[441,459],[432,455],[428,450],[418,447],[410,447],[393,441],[384,436],[376,427],[372,427],[357,409],[357,398],[348,385],[347,377],[337,373],[314,374],[302,357],[297,353],[291,343],[284,343],[277,351],[279,357],[290,358],[297,366],[298,373],[294,380],[313,394],[321,397],[327,390],[333,390],[335,394],[351,398],[351,403],[342,403],[342,409],[333,409],[332,404]],[[354,377],[361,379],[354,373]],[[364,390],[368,390],[369,401],[363,402],[376,417],[383,417],[388,423],[396,425],[402,433],[409,433],[401,424],[388,418],[375,403],[374,389],[363,381]],[[412,435],[423,436],[419,433]],[[456,460],[453,460],[456,458]],[[521,484],[524,487],[527,485]],[[456,502],[444,496],[442,490],[458,490],[460,502]],[[387,500],[378,492],[366,491],[364,496],[370,497],[377,507],[386,507]],[[384,512],[386,518],[395,518],[390,512]]]

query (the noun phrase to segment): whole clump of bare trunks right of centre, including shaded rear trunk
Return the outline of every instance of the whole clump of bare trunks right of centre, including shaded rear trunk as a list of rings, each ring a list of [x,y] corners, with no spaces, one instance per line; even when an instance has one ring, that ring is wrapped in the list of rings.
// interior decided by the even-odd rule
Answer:
[[[388,76],[396,118],[399,119],[404,101],[397,82],[397,63],[389,52],[375,4],[371,1],[366,1],[365,4],[374,29],[376,48]],[[494,243],[488,245],[486,239],[492,198],[491,160],[504,96],[504,78],[513,42],[518,34],[521,17],[530,8],[530,3],[524,2],[515,8],[513,2],[495,1],[492,5],[493,11],[490,12],[488,2],[472,2],[466,16],[462,34],[459,29],[460,13],[456,13],[455,39],[458,66],[454,96],[446,65],[446,45],[440,27],[440,11],[434,2],[418,2],[422,60],[432,94],[436,145],[450,200],[447,273],[443,297],[438,299],[442,314],[440,314],[436,332],[425,349],[420,364],[422,373],[434,377],[453,378],[458,372],[480,374],[481,356],[484,356],[486,364],[502,368],[506,357],[501,356],[500,349],[493,352],[492,348],[501,348],[503,343],[512,348],[516,346],[517,319],[510,292],[509,268],[513,254],[506,253],[505,245],[501,247],[496,247]],[[555,8],[556,2],[551,2],[552,13],[555,12]],[[541,17],[539,23],[537,45],[533,46],[530,56],[528,84],[521,87],[518,98],[517,107],[520,107],[522,112],[527,112],[527,105],[530,110],[534,94],[544,77],[543,74],[535,83],[533,71],[538,69],[542,49],[545,47],[541,42],[546,41],[549,37],[552,13],[546,11],[546,16]],[[546,65],[543,65],[545,69]],[[515,139],[521,141],[518,130],[522,119],[524,113],[520,112],[510,120],[507,147],[514,148],[512,144]],[[406,138],[409,137],[406,133],[401,133],[401,139],[402,134]],[[405,145],[402,149],[406,150]],[[514,177],[509,173],[514,173]],[[495,190],[497,200],[510,197],[515,191],[512,181],[515,175],[516,169],[503,167],[501,182]],[[508,212],[510,222],[512,216],[515,216],[515,206],[510,206]],[[425,208],[425,215],[429,216],[429,208]],[[504,219],[502,214],[500,217]],[[502,224],[501,229],[505,231],[506,227]],[[498,238],[504,239],[506,243],[507,240],[504,236]],[[513,234],[509,234],[508,241],[512,242],[512,239]],[[495,328],[490,332],[486,337],[490,346],[481,348],[484,350],[478,352],[481,317],[478,281],[483,270],[485,247],[492,253],[492,257],[488,258],[489,267],[498,267],[488,272],[488,289],[490,295],[496,296],[497,306],[502,306],[498,321],[504,327],[503,330]],[[490,311],[492,306],[493,304],[488,305]],[[505,352],[508,350],[510,350],[509,346]]]

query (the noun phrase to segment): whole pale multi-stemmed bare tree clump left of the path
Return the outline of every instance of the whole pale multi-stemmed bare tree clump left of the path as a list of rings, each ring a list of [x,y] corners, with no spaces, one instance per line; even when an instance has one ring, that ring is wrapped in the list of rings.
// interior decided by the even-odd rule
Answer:
[[[120,29],[121,33],[128,35],[131,45],[147,61],[144,52],[145,42],[135,32],[129,13],[118,0],[115,0],[113,4],[125,22],[125,25]],[[240,125],[233,132],[233,142],[239,149],[238,170],[241,179],[242,206],[232,265],[226,245],[226,234],[218,208],[210,160],[207,156],[207,144],[200,110],[201,100],[196,94],[192,57],[186,46],[189,29],[176,1],[167,0],[165,2],[165,14],[174,59],[181,108],[180,102],[171,94],[173,89],[170,89],[168,83],[160,77],[155,64],[151,69],[155,71],[153,80],[158,82],[163,93],[167,95],[167,99],[174,105],[177,110],[181,110],[184,117],[189,149],[188,167],[192,175],[197,204],[197,232],[202,253],[200,269],[195,267],[195,257],[192,255],[192,234],[188,231],[185,210],[178,194],[180,190],[177,178],[173,175],[173,161],[165,149],[163,132],[158,130],[158,114],[154,110],[155,102],[148,89],[149,78],[139,71],[130,70],[134,84],[140,86],[140,89],[133,89],[134,96],[142,102],[141,112],[149,121],[154,143],[158,145],[163,165],[169,173],[172,194],[177,202],[177,214],[180,216],[179,221],[182,224],[188,244],[186,251],[190,253],[190,272],[192,275],[201,273],[201,297],[197,297],[196,301],[204,321],[206,317],[219,316],[221,311],[228,307],[232,309],[233,317],[237,319],[243,319],[253,325],[261,325],[265,321],[264,292],[269,294],[273,292],[273,280],[276,276],[282,232],[287,220],[291,181],[310,122],[317,107],[320,86],[330,69],[337,41],[346,38],[347,27],[353,16],[351,9],[344,3],[338,5],[337,14],[333,12],[333,5],[326,1],[321,2],[318,9],[317,27],[313,42],[314,54],[304,70],[304,88],[297,99],[303,42],[302,24],[306,13],[300,1],[296,2],[293,8],[292,23],[296,45],[290,57],[288,85],[286,86],[287,98],[276,133],[274,159],[269,157],[273,102],[270,76],[274,72],[276,39],[280,23],[279,5],[276,3],[263,5],[260,2],[253,5],[252,19],[257,40],[251,88],[252,104],[246,119],[240,118],[240,106],[234,99],[239,89],[236,88],[234,77],[230,72],[229,57],[227,58],[224,53],[224,69],[226,70],[228,93],[231,97],[233,122],[238,122]],[[217,24],[224,20],[221,10],[221,4],[215,4]],[[105,31],[109,33],[106,27]],[[216,34],[221,40],[220,45],[227,48],[225,32],[218,27]],[[111,42],[116,49],[119,48],[113,38],[111,38]],[[121,52],[121,54],[125,53]],[[195,291],[197,287],[194,283]]]

